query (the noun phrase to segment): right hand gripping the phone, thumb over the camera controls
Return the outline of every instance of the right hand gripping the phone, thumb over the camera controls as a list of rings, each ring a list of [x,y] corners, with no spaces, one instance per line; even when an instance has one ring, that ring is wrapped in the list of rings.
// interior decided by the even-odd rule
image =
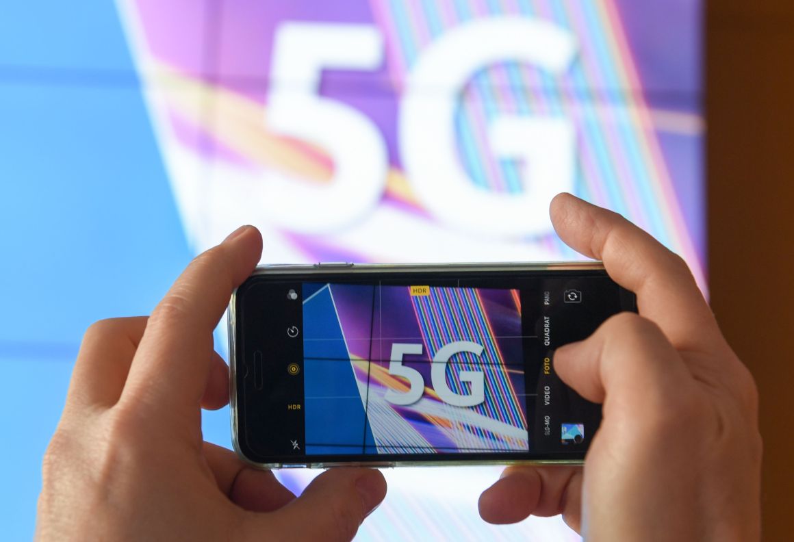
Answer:
[[[480,496],[480,515],[562,513],[587,540],[759,540],[757,390],[688,267],[570,194],[551,216],[566,244],[637,294],[639,315],[616,315],[554,355],[565,383],[603,403],[584,467],[508,467]]]

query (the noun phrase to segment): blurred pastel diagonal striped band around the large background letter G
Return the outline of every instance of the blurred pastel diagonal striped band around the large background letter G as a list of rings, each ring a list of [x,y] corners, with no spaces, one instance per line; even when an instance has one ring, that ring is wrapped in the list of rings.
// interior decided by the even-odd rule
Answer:
[[[372,13],[386,31],[391,79],[400,82],[422,49],[448,29],[483,17],[537,17],[569,29],[580,52],[554,78],[518,63],[481,71],[461,96],[461,160],[472,180],[488,190],[519,192],[520,164],[496,160],[484,134],[498,115],[551,115],[576,123],[579,168],[576,194],[630,217],[679,252],[700,286],[703,268],[669,177],[651,111],[614,0],[456,0],[379,2]],[[544,240],[565,253],[556,238]]]

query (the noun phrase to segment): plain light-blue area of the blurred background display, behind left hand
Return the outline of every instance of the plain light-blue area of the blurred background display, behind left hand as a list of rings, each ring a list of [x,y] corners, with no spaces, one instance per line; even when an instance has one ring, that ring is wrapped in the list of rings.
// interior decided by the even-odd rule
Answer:
[[[150,313],[190,259],[114,2],[3,2],[2,540],[33,536],[85,329]],[[204,425],[229,445],[227,409]]]

